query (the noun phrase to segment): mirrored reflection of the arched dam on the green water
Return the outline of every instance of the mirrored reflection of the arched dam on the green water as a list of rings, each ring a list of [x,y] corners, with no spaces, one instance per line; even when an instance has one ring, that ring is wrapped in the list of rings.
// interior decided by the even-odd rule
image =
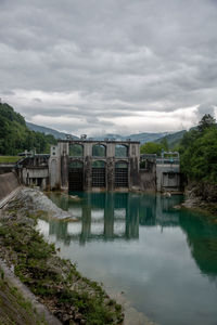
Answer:
[[[78,219],[78,222],[50,221],[49,235],[69,244],[91,240],[138,239],[139,226],[175,226],[179,223],[177,211],[171,207],[180,197],[136,193],[80,193],[81,200],[75,202],[67,195],[51,193],[52,200]]]

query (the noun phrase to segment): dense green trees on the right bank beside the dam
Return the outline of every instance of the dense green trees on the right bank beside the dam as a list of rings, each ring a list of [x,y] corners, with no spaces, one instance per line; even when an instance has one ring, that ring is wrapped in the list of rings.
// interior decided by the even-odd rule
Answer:
[[[217,212],[217,126],[205,115],[199,126],[186,132],[180,146],[181,171],[188,180],[188,196],[197,197]],[[202,203],[203,206],[203,203]],[[203,206],[204,207],[204,206]]]

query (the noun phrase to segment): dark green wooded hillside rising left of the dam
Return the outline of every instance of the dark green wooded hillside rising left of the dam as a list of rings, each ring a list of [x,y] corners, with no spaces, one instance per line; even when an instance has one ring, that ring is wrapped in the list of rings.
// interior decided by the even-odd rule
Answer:
[[[25,150],[50,153],[50,145],[55,143],[51,134],[30,131],[21,114],[10,105],[0,103],[0,155],[17,155]]]

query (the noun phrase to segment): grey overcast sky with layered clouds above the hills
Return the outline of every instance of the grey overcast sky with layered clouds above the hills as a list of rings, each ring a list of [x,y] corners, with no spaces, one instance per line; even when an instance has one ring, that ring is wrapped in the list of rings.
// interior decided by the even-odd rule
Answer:
[[[0,0],[0,98],[77,135],[188,129],[217,113],[217,0]]]

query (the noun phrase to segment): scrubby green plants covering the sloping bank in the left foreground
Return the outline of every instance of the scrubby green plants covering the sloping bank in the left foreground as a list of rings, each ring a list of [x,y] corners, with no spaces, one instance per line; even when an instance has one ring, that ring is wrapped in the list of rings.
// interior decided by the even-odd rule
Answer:
[[[122,324],[123,310],[95,282],[56,256],[36,231],[37,214],[22,199],[0,219],[0,257],[63,324]]]

